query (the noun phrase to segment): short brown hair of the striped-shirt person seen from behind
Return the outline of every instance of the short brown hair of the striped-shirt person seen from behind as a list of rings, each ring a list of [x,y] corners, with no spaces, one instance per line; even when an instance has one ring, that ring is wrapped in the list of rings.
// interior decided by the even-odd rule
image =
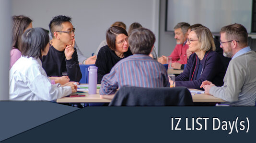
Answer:
[[[128,38],[128,42],[133,54],[149,55],[155,43],[155,35],[146,28],[134,29]]]

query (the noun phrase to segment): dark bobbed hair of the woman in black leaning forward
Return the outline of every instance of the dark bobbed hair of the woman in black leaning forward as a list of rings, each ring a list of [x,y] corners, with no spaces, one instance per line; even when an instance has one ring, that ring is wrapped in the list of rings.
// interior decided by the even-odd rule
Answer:
[[[119,34],[125,34],[128,36],[127,31],[118,26],[112,26],[106,31],[107,45],[113,51],[116,51],[116,36]]]

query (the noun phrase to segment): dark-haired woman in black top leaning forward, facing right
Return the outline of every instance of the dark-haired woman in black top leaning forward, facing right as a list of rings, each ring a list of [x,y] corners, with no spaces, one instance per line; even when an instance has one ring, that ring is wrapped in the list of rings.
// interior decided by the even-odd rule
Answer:
[[[98,67],[98,84],[118,61],[132,55],[125,29],[117,26],[110,27],[106,31],[106,41],[107,45],[100,49],[95,62],[95,66]]]

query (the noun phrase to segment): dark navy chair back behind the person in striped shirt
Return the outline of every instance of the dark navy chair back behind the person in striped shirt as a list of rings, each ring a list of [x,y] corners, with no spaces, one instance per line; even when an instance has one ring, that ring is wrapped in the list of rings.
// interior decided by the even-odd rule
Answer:
[[[116,92],[109,106],[191,106],[192,97],[186,87],[145,88],[124,86]]]

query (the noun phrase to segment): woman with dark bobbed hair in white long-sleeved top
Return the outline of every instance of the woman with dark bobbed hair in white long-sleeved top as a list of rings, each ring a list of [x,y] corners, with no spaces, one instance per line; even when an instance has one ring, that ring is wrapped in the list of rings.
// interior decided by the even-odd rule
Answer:
[[[76,92],[75,82],[61,86],[51,84],[42,68],[42,56],[49,51],[49,36],[42,28],[31,28],[19,40],[22,57],[12,66],[9,74],[10,100],[52,101]]]

